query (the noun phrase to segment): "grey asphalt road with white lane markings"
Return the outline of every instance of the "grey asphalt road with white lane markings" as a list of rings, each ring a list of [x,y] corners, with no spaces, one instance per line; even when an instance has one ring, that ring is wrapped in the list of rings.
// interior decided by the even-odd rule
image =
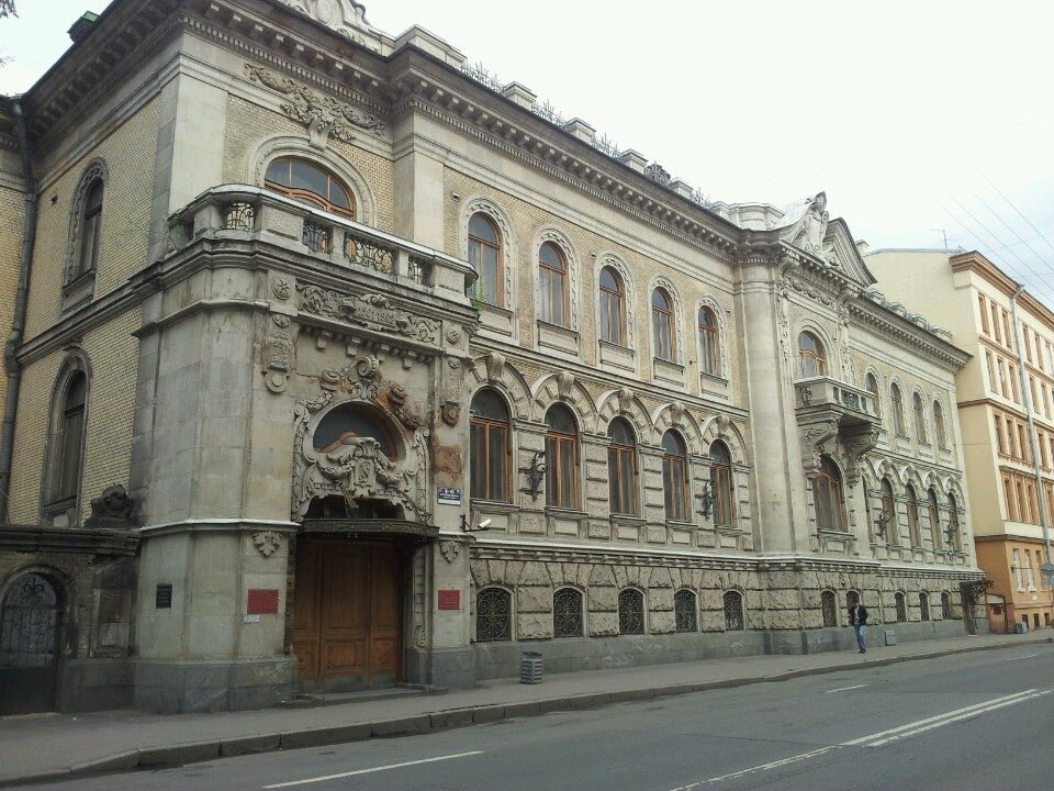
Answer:
[[[32,788],[1034,791],[1052,734],[1042,644]]]

